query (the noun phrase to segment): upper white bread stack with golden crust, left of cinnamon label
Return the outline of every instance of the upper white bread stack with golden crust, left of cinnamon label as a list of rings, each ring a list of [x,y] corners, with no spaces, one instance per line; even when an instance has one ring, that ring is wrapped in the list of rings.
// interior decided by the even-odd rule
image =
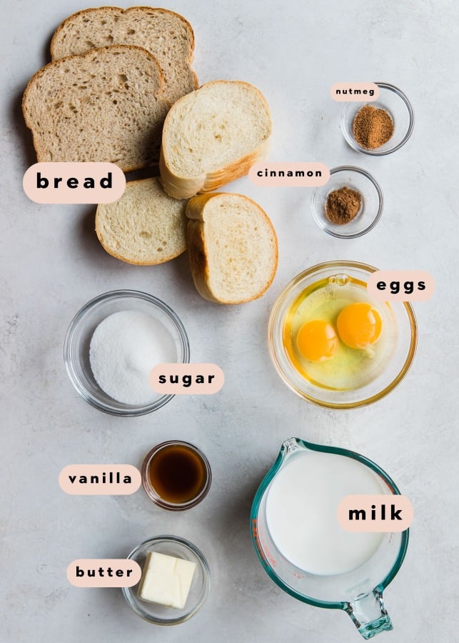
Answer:
[[[186,199],[248,174],[266,158],[271,131],[268,104],[256,87],[241,81],[204,84],[177,101],[164,122],[164,189]]]

